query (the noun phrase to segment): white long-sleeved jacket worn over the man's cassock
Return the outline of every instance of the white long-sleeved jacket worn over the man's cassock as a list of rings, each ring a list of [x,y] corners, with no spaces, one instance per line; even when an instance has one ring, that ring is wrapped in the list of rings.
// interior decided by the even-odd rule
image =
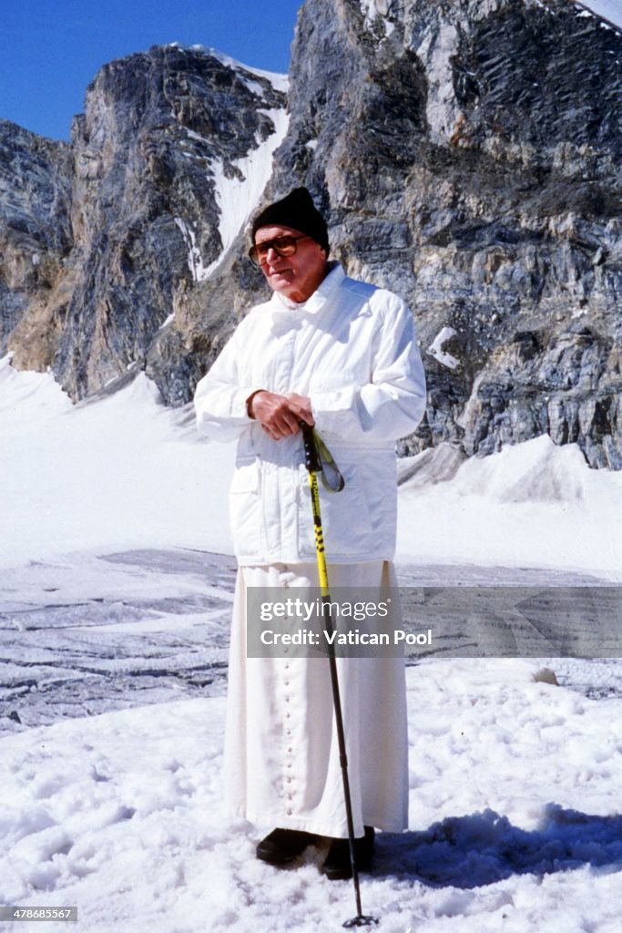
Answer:
[[[391,560],[395,440],[425,410],[412,313],[392,292],[347,278],[335,264],[304,304],[277,293],[242,320],[195,395],[210,438],[239,436],[230,514],[240,564],[315,558],[301,435],[272,440],[248,417],[257,389],[311,398],[315,427],[346,485],[320,487],[328,562]]]

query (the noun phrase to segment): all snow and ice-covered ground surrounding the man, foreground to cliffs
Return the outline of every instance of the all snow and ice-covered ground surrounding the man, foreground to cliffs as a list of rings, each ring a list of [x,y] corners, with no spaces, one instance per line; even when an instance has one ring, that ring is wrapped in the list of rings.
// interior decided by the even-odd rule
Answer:
[[[273,870],[271,828],[221,815],[231,447],[143,376],[73,406],[6,358],[0,438],[0,904],[97,933],[341,928],[321,853]],[[404,485],[402,577],[619,582],[621,503],[622,475],[536,439]],[[549,658],[554,686],[543,663],[408,669],[410,827],[362,876],[385,933],[618,933],[622,668]]]

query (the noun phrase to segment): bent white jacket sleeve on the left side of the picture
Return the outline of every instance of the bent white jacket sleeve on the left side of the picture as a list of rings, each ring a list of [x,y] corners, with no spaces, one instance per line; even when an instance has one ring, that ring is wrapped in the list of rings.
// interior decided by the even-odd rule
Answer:
[[[203,376],[194,395],[197,427],[213,440],[232,440],[253,424],[246,411],[246,399],[256,386],[240,385],[238,341],[240,327]]]

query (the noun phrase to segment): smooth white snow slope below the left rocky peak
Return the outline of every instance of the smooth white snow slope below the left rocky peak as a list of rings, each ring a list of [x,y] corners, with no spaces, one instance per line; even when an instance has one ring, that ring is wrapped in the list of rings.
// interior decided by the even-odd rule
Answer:
[[[192,412],[165,408],[142,373],[74,406],[51,375],[5,357],[0,435],[0,567],[145,543],[231,552],[233,449],[200,443]]]

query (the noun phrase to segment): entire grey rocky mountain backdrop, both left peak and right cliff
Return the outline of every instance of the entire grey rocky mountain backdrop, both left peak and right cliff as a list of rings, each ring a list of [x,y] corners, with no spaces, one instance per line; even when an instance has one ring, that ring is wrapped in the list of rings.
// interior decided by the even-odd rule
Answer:
[[[333,255],[416,315],[429,404],[402,453],[548,433],[622,468],[619,31],[570,0],[307,0],[288,125],[283,91],[157,48],[104,67],[71,146],[5,125],[14,365],[76,398],[146,369],[187,401],[264,293],[263,186],[306,184]]]

